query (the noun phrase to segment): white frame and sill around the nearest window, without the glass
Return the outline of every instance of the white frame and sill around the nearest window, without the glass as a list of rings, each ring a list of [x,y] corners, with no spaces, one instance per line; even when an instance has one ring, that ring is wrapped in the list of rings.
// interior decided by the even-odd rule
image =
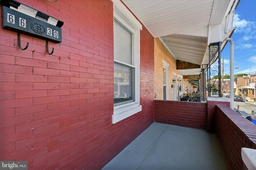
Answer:
[[[112,115],[112,123],[114,124],[142,110],[140,105],[140,30],[142,30],[142,25],[120,0],[112,1],[114,2],[114,18],[134,32],[135,66],[134,102],[114,106],[114,113]]]

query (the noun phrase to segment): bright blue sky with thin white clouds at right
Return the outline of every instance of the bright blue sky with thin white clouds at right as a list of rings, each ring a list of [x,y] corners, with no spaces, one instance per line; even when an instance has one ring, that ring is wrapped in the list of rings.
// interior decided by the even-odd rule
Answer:
[[[234,40],[234,74],[256,72],[256,0],[240,0],[235,10],[232,35]],[[230,42],[221,53],[224,57],[224,75],[230,74]]]

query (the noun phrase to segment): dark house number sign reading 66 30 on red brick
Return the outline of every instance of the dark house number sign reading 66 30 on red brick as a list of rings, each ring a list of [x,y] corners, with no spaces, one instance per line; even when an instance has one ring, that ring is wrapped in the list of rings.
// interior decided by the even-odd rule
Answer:
[[[2,28],[60,43],[62,42],[61,28],[51,24],[54,20],[56,19],[53,18],[52,22],[48,23],[2,6]]]

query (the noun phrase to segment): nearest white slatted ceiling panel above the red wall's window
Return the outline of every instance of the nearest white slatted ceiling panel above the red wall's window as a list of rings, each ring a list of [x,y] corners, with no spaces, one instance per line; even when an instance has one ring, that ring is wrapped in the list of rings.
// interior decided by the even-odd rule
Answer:
[[[214,0],[123,0],[154,37],[208,26]]]

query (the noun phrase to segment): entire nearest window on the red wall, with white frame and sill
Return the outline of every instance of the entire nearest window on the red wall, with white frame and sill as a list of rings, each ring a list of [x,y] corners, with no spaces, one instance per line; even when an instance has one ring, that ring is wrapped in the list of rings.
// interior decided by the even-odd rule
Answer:
[[[117,123],[142,110],[140,105],[140,30],[142,25],[114,2],[114,114]]]

